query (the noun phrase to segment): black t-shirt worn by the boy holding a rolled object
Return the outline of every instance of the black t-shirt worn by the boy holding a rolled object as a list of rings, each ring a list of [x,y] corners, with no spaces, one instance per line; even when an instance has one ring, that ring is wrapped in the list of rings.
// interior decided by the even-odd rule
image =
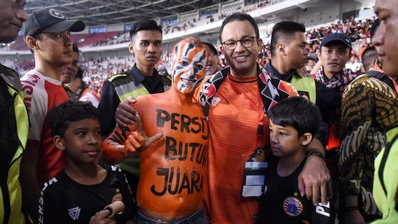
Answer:
[[[63,171],[45,183],[39,201],[39,223],[84,223],[112,202],[122,201],[125,210],[116,223],[133,220],[136,207],[121,169],[102,165],[107,176],[102,183],[82,185]]]

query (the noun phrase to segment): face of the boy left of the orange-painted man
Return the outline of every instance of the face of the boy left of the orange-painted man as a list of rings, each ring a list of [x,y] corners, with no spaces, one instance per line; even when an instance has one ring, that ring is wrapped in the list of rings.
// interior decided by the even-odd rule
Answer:
[[[69,123],[69,127],[61,138],[61,144],[67,160],[78,163],[95,162],[101,155],[102,146],[98,120],[88,118]]]

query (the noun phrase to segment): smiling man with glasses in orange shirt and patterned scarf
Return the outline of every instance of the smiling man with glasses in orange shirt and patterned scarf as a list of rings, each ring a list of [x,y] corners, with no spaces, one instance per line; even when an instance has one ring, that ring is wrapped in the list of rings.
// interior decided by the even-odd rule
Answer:
[[[220,50],[230,67],[205,80],[199,94],[210,127],[205,208],[211,223],[255,223],[256,197],[242,197],[244,168],[259,148],[269,146],[268,117],[264,112],[297,92],[289,83],[272,78],[256,64],[263,41],[250,15],[228,16],[221,25],[220,41]],[[321,148],[319,141],[316,144],[316,148]],[[322,159],[310,156],[308,160],[304,169],[315,166],[310,169],[319,170],[315,175],[320,176],[313,181],[301,174],[306,182],[306,190],[301,188],[301,191],[315,196],[319,193],[319,180],[326,181],[329,174]]]

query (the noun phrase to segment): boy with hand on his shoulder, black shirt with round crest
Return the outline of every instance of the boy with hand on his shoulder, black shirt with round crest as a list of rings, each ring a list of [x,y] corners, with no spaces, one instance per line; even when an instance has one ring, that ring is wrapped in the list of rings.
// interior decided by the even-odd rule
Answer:
[[[268,111],[270,150],[266,193],[260,200],[258,223],[330,223],[327,205],[301,197],[297,179],[306,162],[306,146],[322,120],[320,110],[308,99],[290,97]]]

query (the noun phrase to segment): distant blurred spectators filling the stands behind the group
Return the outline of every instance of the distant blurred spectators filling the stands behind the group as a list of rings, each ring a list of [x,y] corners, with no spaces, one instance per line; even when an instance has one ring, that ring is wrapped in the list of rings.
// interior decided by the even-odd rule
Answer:
[[[361,62],[359,55],[362,55],[364,49],[369,47],[369,38],[370,32],[369,27],[375,18],[364,20],[364,21],[355,21],[354,18],[346,19],[343,23],[336,22],[332,23],[327,27],[317,27],[315,29],[306,31],[306,37],[308,40],[308,45],[306,48],[308,50],[308,59],[310,59],[310,64],[318,61],[317,52],[320,49],[320,43],[322,38],[327,34],[332,33],[345,33],[347,34],[352,41],[352,54],[353,60],[355,63]],[[104,41],[102,42],[104,45],[114,44],[113,42]],[[119,42],[117,42],[119,43]],[[215,48],[219,48],[219,45],[216,45]],[[224,59],[224,56],[219,52],[219,66],[220,68],[224,68],[228,66],[227,62]],[[162,55],[160,61],[158,62],[156,68],[163,67],[163,64],[170,59],[171,52],[166,52]],[[265,66],[268,62],[270,62],[270,49],[269,43],[264,43],[261,51],[258,55],[258,61],[261,66]],[[135,63],[135,59],[133,57],[118,57],[118,58],[97,58],[97,59],[88,59],[88,61],[82,62],[81,67],[84,69],[84,80],[87,82],[88,86],[92,90],[99,90],[102,83],[109,78],[112,74],[121,73],[123,71],[127,71],[132,69],[132,64]],[[350,63],[350,61],[348,61]],[[313,64],[315,65],[315,64]],[[32,64],[31,64],[32,66]],[[312,68],[312,67],[311,67]],[[363,66],[360,67],[361,71],[364,71]],[[23,73],[23,71],[22,71]],[[94,82],[95,80],[95,82]],[[94,84],[95,83],[95,84]]]

